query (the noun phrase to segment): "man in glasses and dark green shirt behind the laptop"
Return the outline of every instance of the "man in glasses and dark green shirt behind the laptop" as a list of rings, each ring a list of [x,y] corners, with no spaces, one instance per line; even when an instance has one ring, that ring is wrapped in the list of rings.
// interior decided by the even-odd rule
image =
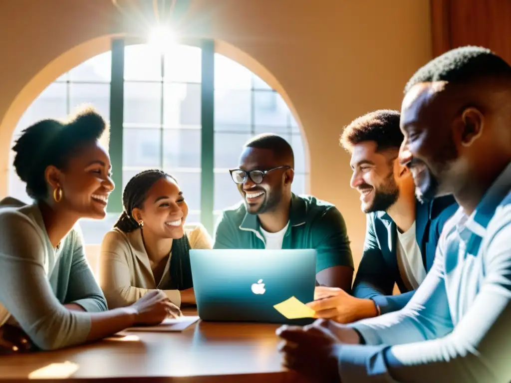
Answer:
[[[243,201],[222,212],[214,248],[316,249],[317,283],[350,291],[353,258],[344,219],[331,203],[293,194],[293,169],[284,138],[249,140],[238,169],[230,170]]]

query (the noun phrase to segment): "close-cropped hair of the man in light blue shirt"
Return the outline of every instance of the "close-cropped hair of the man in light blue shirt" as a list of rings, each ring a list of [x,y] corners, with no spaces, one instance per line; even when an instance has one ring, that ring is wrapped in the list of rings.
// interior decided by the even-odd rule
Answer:
[[[489,49],[462,46],[436,57],[417,70],[406,84],[404,93],[423,82],[467,83],[483,77],[511,78],[511,66]]]

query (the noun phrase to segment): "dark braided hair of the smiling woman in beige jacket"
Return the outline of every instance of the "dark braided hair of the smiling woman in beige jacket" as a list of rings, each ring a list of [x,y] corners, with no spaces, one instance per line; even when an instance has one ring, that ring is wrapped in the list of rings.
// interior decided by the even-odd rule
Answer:
[[[129,181],[123,192],[123,207],[124,211],[121,216],[113,225],[125,233],[129,233],[140,227],[138,222],[131,216],[134,208],[142,208],[144,201],[147,198],[149,189],[160,179],[170,177],[174,181],[176,179],[170,174],[165,173],[159,169],[150,169],[140,172],[133,176]],[[177,181],[176,181],[177,182]]]

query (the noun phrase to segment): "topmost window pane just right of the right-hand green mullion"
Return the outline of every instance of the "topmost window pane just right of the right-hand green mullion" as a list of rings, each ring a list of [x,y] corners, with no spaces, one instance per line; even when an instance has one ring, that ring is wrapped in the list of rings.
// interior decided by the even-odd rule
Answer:
[[[251,75],[243,65],[215,53],[215,89],[251,89]]]

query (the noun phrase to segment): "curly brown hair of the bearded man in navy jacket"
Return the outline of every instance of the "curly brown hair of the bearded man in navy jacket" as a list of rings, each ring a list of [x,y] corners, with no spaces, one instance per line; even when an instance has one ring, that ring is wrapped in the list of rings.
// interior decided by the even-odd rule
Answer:
[[[376,142],[377,151],[399,149],[404,136],[399,128],[400,113],[381,109],[354,119],[342,132],[340,143],[349,153],[361,142]]]

